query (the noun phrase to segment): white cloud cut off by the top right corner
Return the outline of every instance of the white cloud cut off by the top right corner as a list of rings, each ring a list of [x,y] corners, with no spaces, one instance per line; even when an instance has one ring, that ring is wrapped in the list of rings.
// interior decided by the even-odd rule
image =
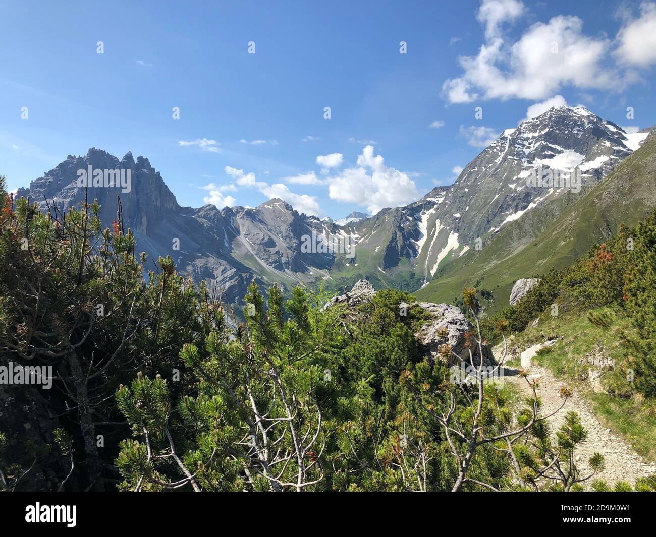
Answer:
[[[627,64],[647,67],[656,63],[656,3],[643,2],[640,17],[628,18],[617,33],[615,54]]]

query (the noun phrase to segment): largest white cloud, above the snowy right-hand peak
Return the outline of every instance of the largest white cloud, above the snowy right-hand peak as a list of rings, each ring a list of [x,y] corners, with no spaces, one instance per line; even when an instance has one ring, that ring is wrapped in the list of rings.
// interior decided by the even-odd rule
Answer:
[[[510,4],[483,3],[478,18],[485,25],[485,44],[477,56],[461,56],[462,75],[443,83],[448,102],[544,99],[564,85],[608,91],[626,84],[626,77],[605,66],[611,41],[584,35],[578,17],[554,16],[530,26],[515,43],[506,42],[499,25],[514,20],[518,12]]]

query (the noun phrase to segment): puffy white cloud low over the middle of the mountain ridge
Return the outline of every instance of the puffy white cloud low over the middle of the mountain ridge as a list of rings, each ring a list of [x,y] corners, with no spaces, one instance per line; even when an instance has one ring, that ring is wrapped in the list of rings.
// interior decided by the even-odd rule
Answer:
[[[329,178],[328,184],[331,199],[362,205],[369,214],[419,198],[415,183],[405,172],[386,167],[381,155],[374,156],[373,146],[363,149],[356,168],[342,170],[339,176]]]

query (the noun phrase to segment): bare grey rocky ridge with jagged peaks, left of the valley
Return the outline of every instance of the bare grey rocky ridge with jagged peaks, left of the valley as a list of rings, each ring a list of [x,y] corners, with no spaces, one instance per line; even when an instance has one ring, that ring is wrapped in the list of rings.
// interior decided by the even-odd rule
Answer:
[[[97,199],[100,203],[103,226],[109,227],[117,219],[120,197],[123,225],[132,229],[137,251],[146,252],[152,260],[170,255],[178,270],[190,274],[196,282],[216,283],[230,303],[241,298],[253,279],[264,287],[277,282],[289,290],[297,283],[325,275],[325,269],[333,263],[335,256],[330,251],[313,252],[302,245],[304,237],[311,245],[313,232],[315,244],[329,238],[338,229],[335,224],[298,214],[281,199],[272,199],[255,209],[181,207],[148,159],[138,157],[135,163],[131,153],[120,161],[95,148],[84,157],[70,155],[33,180],[30,188],[18,189],[16,197],[29,196],[43,211],[49,207],[61,212],[80,207],[85,191],[78,184],[78,173],[90,166],[102,172],[130,172],[129,191],[89,183],[87,196],[90,202]]]

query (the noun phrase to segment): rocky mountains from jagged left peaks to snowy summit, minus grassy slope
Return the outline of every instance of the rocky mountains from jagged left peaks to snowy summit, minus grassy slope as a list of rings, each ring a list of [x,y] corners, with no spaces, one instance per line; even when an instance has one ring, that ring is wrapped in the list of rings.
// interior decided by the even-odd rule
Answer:
[[[42,210],[65,211],[84,200],[80,170],[91,167],[104,177],[122,170],[129,188],[125,183],[124,188],[106,181],[87,183],[89,201],[98,199],[102,207],[103,225],[116,220],[120,197],[123,224],[133,230],[138,251],[153,260],[170,255],[178,270],[197,283],[216,283],[230,303],[241,298],[253,279],[262,287],[278,283],[285,290],[319,281],[336,290],[369,279],[377,288],[413,291],[457,265],[461,256],[470,258],[477,244],[493,244],[496,233],[526,213],[519,221],[527,220],[536,207],[545,222],[550,208],[555,218],[564,206],[556,201],[574,203],[646,136],[627,134],[584,108],[552,108],[505,130],[462,170],[455,184],[434,188],[405,207],[371,217],[354,212],[337,222],[298,214],[281,199],[255,209],[181,207],[148,159],[135,162],[127,153],[119,161],[95,148],[84,157],[69,155],[17,195],[29,196]],[[581,192],[558,184],[527,185],[537,167],[563,174],[578,168]],[[535,237],[526,235],[516,237],[517,242]]]

